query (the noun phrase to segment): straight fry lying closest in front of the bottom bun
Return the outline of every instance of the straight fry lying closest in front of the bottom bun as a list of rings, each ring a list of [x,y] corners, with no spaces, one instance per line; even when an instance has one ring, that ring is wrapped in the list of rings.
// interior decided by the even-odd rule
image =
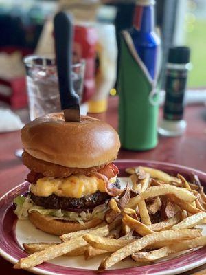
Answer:
[[[92,234],[95,234],[95,232],[97,234],[99,234],[99,232],[105,232],[105,231],[109,233],[108,225],[106,223],[101,223],[100,225],[96,226],[95,228],[89,228],[86,230],[80,230],[80,231],[71,232],[68,234],[63,234],[62,236],[60,236],[60,239],[62,241],[68,241],[70,239],[75,239],[75,238],[78,238],[79,236],[84,236],[84,234],[91,232],[91,230],[93,231]]]

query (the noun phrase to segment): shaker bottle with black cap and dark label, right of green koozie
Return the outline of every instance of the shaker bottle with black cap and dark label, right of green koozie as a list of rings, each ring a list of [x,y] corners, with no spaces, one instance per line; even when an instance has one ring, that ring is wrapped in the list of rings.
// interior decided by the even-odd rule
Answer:
[[[183,119],[187,72],[190,69],[190,48],[172,47],[169,50],[163,120],[159,133],[168,137],[183,135],[187,123]]]

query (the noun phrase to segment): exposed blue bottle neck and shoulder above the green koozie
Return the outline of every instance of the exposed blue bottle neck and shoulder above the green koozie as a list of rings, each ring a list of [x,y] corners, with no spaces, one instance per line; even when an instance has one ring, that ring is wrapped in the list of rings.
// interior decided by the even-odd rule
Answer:
[[[160,39],[155,33],[155,1],[137,1],[133,27],[128,30],[137,54],[144,63],[151,78],[157,77]]]

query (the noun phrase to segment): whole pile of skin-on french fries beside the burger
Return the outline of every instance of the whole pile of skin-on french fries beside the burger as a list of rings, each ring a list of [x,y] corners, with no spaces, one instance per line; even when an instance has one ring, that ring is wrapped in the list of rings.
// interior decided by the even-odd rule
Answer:
[[[206,245],[206,195],[196,175],[187,181],[148,167],[127,168],[133,183],[108,202],[105,221],[96,228],[60,236],[60,243],[24,243],[30,254],[14,268],[28,269],[58,256],[103,255],[99,271],[126,257],[137,265]],[[134,263],[135,263],[134,262]]]

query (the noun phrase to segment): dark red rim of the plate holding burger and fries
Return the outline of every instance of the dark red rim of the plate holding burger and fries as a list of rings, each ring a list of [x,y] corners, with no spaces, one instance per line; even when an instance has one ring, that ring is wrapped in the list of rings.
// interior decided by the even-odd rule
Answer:
[[[206,173],[203,173],[199,170],[188,168],[186,166],[181,166],[178,164],[169,164],[157,161],[146,161],[146,160],[133,160],[133,159],[119,159],[115,163],[119,166],[120,176],[126,175],[124,169],[128,166],[150,166],[153,168],[159,168],[169,173],[182,173],[185,176],[188,176],[189,173],[196,173],[200,177],[202,184],[206,186]],[[130,164],[130,165],[128,165]],[[12,199],[16,195],[22,194],[27,191],[29,183],[27,181],[23,182],[19,186],[16,186],[9,192],[7,192],[3,197],[0,198],[0,254],[6,260],[11,263],[16,263],[20,257],[26,256],[27,254],[19,247],[19,244],[16,243],[13,228],[15,223],[15,216],[12,211]],[[5,225],[10,225],[10,230],[8,228],[5,230]],[[161,263],[155,263],[152,265],[145,265],[140,267],[130,267],[124,269],[116,270],[106,270],[102,274],[118,274],[123,275],[169,275],[177,274],[179,272],[185,272],[199,265],[206,263],[206,247],[200,248],[198,250],[187,252],[176,258],[163,261]],[[85,275],[96,274],[95,270],[85,270],[78,269],[73,267],[63,267],[60,265],[54,265],[52,263],[43,263],[39,267],[33,267],[30,269],[31,272],[36,274],[71,274],[71,275],[80,275],[84,272]]]

